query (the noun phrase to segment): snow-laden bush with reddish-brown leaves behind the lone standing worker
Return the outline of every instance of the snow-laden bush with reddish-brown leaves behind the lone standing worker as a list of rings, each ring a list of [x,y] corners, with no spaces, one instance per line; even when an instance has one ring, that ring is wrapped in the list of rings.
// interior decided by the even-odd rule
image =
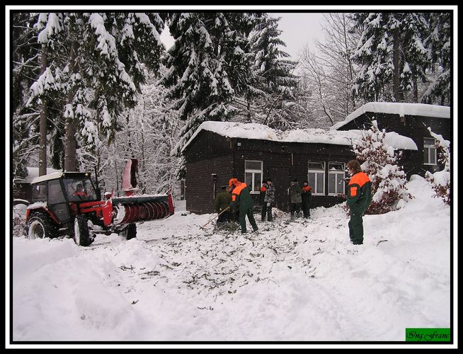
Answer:
[[[362,170],[372,181],[372,202],[367,214],[384,214],[401,208],[406,200],[413,198],[406,188],[406,173],[397,164],[401,152],[384,142],[386,131],[379,131],[373,120],[370,130],[353,144],[359,161],[364,161]]]

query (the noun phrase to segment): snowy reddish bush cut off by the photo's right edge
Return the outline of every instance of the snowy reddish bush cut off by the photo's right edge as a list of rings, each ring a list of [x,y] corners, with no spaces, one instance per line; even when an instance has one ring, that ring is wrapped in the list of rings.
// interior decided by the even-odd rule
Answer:
[[[450,205],[450,142],[442,135],[433,133],[428,127],[430,135],[435,139],[438,149],[439,163],[444,166],[442,171],[431,173],[426,171],[425,178],[433,188],[435,198],[442,198],[445,204]]]

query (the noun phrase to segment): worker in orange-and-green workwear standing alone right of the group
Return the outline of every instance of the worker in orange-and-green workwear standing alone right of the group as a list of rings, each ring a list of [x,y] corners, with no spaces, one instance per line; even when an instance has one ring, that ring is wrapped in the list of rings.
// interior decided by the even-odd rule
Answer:
[[[372,182],[362,171],[357,160],[350,160],[347,168],[351,175],[348,185],[347,205],[350,210],[349,236],[353,244],[363,244],[362,216],[372,201]]]

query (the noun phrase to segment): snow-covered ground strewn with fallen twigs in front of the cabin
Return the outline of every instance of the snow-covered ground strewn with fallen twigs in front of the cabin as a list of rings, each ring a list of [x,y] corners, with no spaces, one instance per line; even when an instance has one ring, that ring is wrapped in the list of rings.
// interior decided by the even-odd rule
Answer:
[[[364,217],[362,246],[341,205],[277,211],[258,234],[204,232],[212,215],[177,202],[130,241],[13,237],[13,341],[400,343],[449,328],[450,207],[421,177],[408,190],[401,210]]]

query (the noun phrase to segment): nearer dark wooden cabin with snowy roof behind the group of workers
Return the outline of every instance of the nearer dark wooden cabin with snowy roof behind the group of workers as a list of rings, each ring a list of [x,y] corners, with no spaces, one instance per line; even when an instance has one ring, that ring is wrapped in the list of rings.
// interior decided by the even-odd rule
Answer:
[[[343,202],[345,164],[355,159],[352,143],[360,130],[304,129],[281,132],[265,125],[238,122],[203,122],[183,147],[186,162],[186,209],[214,212],[213,202],[229,178],[244,181],[254,205],[265,178],[275,185],[276,207],[290,210],[288,188],[297,178],[313,190],[312,207]],[[388,133],[391,144],[404,152],[416,150],[408,137]]]

